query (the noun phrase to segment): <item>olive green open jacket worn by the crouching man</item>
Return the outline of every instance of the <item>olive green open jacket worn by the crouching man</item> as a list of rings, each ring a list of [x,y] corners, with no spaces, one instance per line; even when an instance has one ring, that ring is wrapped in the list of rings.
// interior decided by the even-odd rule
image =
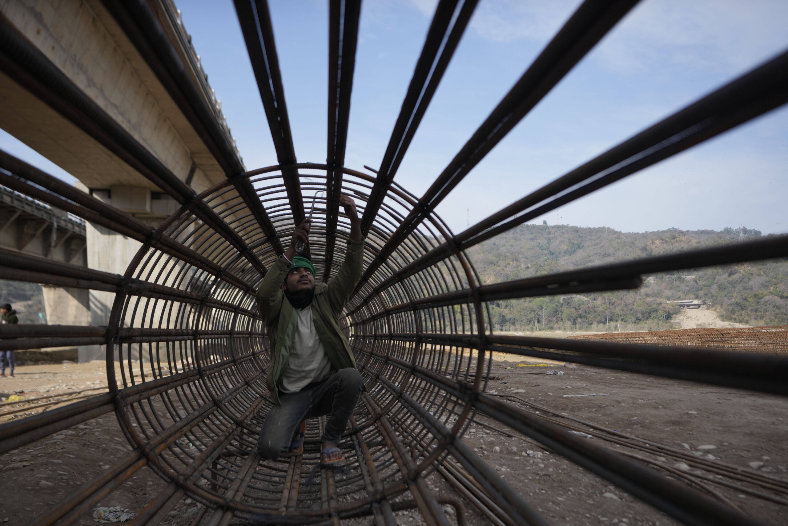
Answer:
[[[355,358],[350,350],[348,338],[340,330],[340,315],[348,303],[355,284],[361,278],[364,263],[364,241],[348,241],[348,251],[344,263],[330,283],[315,283],[312,300],[312,318],[325,354],[337,371],[347,367],[355,368]],[[262,319],[266,320],[266,333],[271,342],[271,364],[268,367],[266,382],[271,397],[277,405],[279,387],[290,360],[290,349],[296,334],[298,316],[284,297],[281,289],[290,263],[277,258],[257,290],[257,305]]]

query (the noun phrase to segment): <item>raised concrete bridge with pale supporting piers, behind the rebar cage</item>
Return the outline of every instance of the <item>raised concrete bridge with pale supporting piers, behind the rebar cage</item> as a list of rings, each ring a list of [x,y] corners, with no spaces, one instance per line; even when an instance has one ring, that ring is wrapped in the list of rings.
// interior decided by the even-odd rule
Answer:
[[[0,128],[71,173],[84,192],[158,226],[180,204],[140,157],[196,193],[243,173],[221,103],[170,0],[2,0],[0,25]],[[6,248],[123,274],[141,246],[33,200],[18,201],[29,211],[14,207],[15,199],[0,192]],[[45,289],[49,323],[107,324],[113,293]],[[102,353],[83,346],[80,360]]]

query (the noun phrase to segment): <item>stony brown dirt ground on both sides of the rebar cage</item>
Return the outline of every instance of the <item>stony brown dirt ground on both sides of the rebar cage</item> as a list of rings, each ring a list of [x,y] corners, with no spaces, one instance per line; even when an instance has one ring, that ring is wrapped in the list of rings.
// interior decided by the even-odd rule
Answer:
[[[582,365],[573,367],[571,364],[552,363],[550,367],[538,365],[540,363],[545,362],[494,361],[488,392],[519,397],[521,407],[541,411],[541,415],[545,415],[545,411],[540,408],[548,408],[559,415],[566,413],[611,430],[686,450],[697,457],[711,457],[712,462],[733,464],[745,472],[753,471],[749,463],[762,463],[753,464],[757,466],[756,472],[788,481],[786,398]],[[546,374],[551,371],[553,374]],[[563,372],[563,375],[556,374],[558,372]],[[100,386],[103,382],[106,378],[102,362],[31,365],[17,367],[15,379],[0,379],[0,393],[7,397],[24,391],[20,393],[23,397],[37,397],[76,392]],[[596,396],[576,396],[582,394]],[[0,412],[11,407],[2,406]],[[24,412],[18,413],[18,416],[23,415]],[[546,416],[561,420],[560,416]],[[9,418],[5,416],[0,420]],[[466,435],[466,442],[552,524],[677,524],[603,479],[549,453],[529,438],[483,416],[478,416],[477,420],[479,423],[473,426],[473,432]],[[515,436],[504,435],[481,423]],[[584,428],[582,424],[569,420],[567,423]],[[585,431],[593,436],[589,440],[616,448],[604,441],[604,433],[590,428],[585,428]],[[621,448],[622,451],[625,449]],[[7,517],[9,526],[28,523],[80,484],[119,461],[129,450],[117,421],[110,413],[0,456],[0,520]],[[660,456],[638,454],[668,468],[685,462],[678,453],[661,453]],[[676,468],[673,469],[675,471]],[[679,469],[685,471],[681,466]],[[686,472],[700,473],[694,467],[686,469]],[[708,472],[703,473],[709,475]],[[786,494],[733,482],[750,491],[788,499]],[[715,483],[706,484],[745,513],[752,513],[768,524],[788,522],[786,505]],[[429,477],[429,485],[437,494],[454,494],[437,473]],[[120,505],[139,512],[163,487],[164,483],[158,476],[150,469],[143,469],[100,505]],[[465,504],[469,524],[489,524],[469,502]],[[189,524],[190,520],[185,519],[196,513],[199,513],[197,503],[181,502],[173,511],[171,522]],[[449,513],[449,517],[453,517],[451,510]],[[400,512],[396,515],[400,524],[423,524],[418,513]],[[370,524],[371,518],[351,522]],[[86,516],[79,524],[97,523]]]

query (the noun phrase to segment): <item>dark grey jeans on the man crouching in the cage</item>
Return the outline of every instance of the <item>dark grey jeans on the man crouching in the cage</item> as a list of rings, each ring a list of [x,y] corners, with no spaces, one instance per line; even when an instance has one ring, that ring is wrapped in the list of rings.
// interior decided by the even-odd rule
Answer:
[[[281,405],[274,405],[260,429],[257,449],[260,457],[271,460],[284,453],[307,418],[331,415],[325,424],[322,441],[337,443],[353,409],[359,401],[362,380],[353,368],[340,369],[322,382],[304,387],[298,393],[279,392]]]

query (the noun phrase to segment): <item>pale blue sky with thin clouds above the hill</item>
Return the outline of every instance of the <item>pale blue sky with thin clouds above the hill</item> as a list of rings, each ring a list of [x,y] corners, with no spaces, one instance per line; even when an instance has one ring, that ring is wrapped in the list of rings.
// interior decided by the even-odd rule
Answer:
[[[347,166],[380,164],[436,3],[363,3]],[[578,3],[481,0],[396,181],[421,195]],[[325,162],[328,3],[269,4],[296,155],[300,162]],[[232,2],[178,0],[177,6],[247,168],[275,164]],[[786,19],[783,1],[641,2],[437,212],[459,231],[469,208],[472,224],[592,159],[788,48]],[[0,136],[0,146],[58,172],[13,142]],[[788,232],[786,144],[788,109],[782,108],[537,222],[630,232],[671,226]]]

